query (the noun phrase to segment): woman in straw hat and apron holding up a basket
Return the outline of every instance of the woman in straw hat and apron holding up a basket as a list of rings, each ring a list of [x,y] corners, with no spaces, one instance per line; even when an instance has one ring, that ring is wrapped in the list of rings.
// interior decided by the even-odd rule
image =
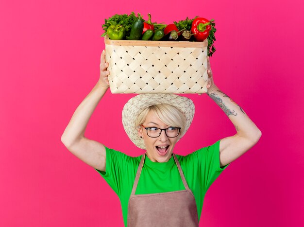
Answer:
[[[207,189],[231,163],[248,151],[261,131],[243,109],[214,84],[208,58],[207,94],[226,113],[236,134],[187,156],[172,153],[186,133],[194,105],[178,95],[138,95],[124,106],[122,121],[129,138],[145,149],[130,157],[84,137],[86,125],[109,87],[105,52],[100,79],[73,114],[62,142],[98,171],[118,194],[125,226],[198,226]]]

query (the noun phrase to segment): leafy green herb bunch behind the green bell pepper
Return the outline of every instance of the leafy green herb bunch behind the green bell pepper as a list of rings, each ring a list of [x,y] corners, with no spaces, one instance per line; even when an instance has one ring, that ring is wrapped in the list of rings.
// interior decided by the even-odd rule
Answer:
[[[138,17],[141,17],[141,15],[138,13]],[[105,31],[101,37],[107,35],[107,29],[108,27],[111,26],[111,24],[117,25],[117,24],[121,24],[122,26],[124,26],[125,31],[126,31],[126,36],[129,36],[131,33],[131,27],[133,25],[133,23],[135,22],[135,20],[137,19],[137,17],[135,16],[135,13],[132,12],[130,15],[127,14],[123,14],[123,15],[114,15],[113,17],[109,17],[108,19],[104,19],[104,24],[102,25],[102,29]]]

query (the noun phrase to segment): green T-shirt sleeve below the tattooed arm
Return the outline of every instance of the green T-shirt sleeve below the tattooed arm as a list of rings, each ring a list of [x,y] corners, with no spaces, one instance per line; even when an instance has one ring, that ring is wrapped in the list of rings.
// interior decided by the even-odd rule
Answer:
[[[220,140],[216,143],[195,151],[201,173],[201,188],[207,192],[211,184],[230,164],[220,167]]]

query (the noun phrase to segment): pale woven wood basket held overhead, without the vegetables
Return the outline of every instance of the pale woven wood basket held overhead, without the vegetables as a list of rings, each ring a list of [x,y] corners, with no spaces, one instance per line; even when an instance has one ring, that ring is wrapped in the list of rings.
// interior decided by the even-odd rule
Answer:
[[[203,42],[104,38],[112,93],[206,93],[207,39]]]

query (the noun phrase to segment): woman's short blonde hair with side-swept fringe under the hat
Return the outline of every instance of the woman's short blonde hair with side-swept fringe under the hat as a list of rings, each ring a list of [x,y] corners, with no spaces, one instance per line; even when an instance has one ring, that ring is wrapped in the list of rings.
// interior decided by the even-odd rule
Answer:
[[[155,104],[145,108],[138,115],[135,121],[136,127],[144,123],[150,111],[153,111],[156,116],[165,124],[169,126],[180,127],[180,136],[184,134],[186,127],[186,117],[179,109],[169,104]]]

